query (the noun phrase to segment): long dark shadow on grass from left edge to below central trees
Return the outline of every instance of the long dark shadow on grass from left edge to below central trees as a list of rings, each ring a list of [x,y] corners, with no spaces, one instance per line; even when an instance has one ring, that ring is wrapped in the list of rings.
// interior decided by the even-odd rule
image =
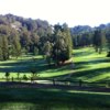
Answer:
[[[6,66],[6,67],[0,67],[0,73],[6,73],[6,72],[9,72],[9,73],[31,73],[31,66],[34,65],[35,66],[35,69],[36,69],[36,74],[41,74],[41,73],[57,73],[57,72],[61,72],[62,70],[69,70],[72,69],[70,68],[70,64],[65,64],[65,65],[62,65],[62,66],[55,66],[54,64],[51,65],[51,67],[48,66],[48,64],[42,59],[42,61],[38,61],[38,62],[19,62],[19,63],[6,63],[6,64],[1,64],[2,66]],[[10,66],[10,67],[8,67]]]

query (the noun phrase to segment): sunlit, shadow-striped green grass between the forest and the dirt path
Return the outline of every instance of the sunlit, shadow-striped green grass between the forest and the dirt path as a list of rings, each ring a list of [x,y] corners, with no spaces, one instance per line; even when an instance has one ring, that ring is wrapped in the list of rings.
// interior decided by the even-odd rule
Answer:
[[[106,57],[107,52],[101,54],[95,52],[94,47],[81,47],[73,51],[73,63],[64,66],[52,66],[46,64],[43,56],[25,55],[18,59],[12,58],[0,62],[0,78],[4,78],[4,73],[10,72],[10,77],[20,77],[24,74],[31,77],[30,67],[36,66],[36,74],[40,78],[57,78],[70,80],[84,80],[89,82],[102,82],[110,80],[110,58]],[[34,61],[33,61],[34,57]]]

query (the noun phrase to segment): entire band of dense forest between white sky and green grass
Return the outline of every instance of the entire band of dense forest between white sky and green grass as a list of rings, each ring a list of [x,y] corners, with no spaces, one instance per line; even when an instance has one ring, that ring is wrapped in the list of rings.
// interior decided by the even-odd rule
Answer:
[[[80,46],[94,46],[99,54],[107,47],[110,56],[110,24],[68,28],[66,23],[51,25],[40,19],[0,15],[0,61],[31,53],[42,54],[48,64],[58,65],[70,58],[73,47]]]

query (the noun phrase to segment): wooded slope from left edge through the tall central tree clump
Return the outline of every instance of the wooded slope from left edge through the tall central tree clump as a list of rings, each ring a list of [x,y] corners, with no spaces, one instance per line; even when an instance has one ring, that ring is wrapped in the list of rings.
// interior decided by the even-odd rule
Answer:
[[[72,56],[73,42],[66,23],[51,25],[47,21],[0,15],[0,61],[21,54],[42,54],[56,65]]]

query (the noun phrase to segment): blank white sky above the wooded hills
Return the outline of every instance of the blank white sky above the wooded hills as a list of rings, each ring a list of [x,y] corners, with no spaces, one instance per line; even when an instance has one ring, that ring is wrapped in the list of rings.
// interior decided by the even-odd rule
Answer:
[[[110,22],[110,0],[0,0],[0,14],[7,13],[51,24],[98,26]]]

